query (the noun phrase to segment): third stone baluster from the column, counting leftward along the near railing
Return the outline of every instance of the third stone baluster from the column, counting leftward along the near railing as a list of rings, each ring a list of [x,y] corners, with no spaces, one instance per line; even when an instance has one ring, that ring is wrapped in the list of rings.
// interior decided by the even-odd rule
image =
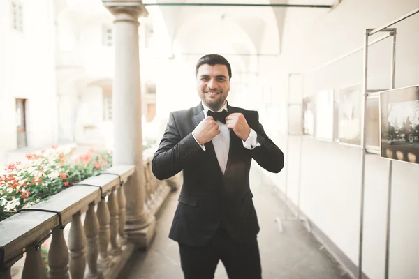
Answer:
[[[99,220],[99,267],[106,269],[108,267],[108,246],[110,241],[110,213],[105,199],[101,199],[98,204],[97,216]]]

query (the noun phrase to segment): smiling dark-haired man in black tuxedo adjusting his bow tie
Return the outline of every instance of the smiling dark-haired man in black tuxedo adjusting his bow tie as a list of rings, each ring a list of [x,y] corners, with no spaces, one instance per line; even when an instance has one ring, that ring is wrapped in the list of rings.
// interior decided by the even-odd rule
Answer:
[[[228,278],[261,278],[258,218],[249,188],[252,158],[270,172],[284,154],[265,134],[258,112],[227,102],[231,68],[210,54],[196,65],[202,102],[170,112],[152,161],[157,179],[183,170],[183,186],[169,237],[179,243],[186,279],[214,278],[221,259]]]

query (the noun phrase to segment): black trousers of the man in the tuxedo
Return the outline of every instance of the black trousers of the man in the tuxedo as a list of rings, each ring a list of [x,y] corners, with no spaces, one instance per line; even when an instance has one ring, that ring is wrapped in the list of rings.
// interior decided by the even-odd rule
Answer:
[[[234,241],[227,230],[219,228],[203,247],[179,243],[180,262],[185,279],[212,279],[219,260],[230,279],[260,279],[262,269],[258,241]]]

